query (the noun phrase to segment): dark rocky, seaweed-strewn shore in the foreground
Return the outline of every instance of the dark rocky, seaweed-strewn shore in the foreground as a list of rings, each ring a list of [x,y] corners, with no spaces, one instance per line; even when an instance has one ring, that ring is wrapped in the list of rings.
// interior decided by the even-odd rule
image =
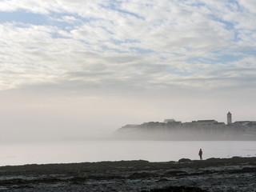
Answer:
[[[0,191],[256,191],[256,158],[2,166]]]

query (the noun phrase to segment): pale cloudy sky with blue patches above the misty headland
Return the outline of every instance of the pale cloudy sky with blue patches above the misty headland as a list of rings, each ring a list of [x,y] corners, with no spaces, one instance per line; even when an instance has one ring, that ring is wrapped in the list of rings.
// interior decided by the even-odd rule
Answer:
[[[254,0],[1,0],[1,142],[256,120]]]

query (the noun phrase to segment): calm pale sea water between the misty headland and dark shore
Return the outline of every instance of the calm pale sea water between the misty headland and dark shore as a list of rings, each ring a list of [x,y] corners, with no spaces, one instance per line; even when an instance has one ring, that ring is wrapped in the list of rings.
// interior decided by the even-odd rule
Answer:
[[[256,142],[172,142],[172,141],[79,141],[2,144],[0,166],[101,162],[143,159],[150,162],[178,161],[180,158],[256,157]]]

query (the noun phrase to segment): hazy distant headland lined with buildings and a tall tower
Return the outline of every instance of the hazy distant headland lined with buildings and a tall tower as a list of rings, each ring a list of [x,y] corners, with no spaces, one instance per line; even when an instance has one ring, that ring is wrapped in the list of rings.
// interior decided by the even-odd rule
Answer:
[[[164,122],[144,122],[140,125],[128,124],[114,133],[119,139],[150,140],[222,140],[255,141],[256,121],[232,122],[232,114],[227,114],[227,123],[216,120],[177,122],[173,118]]]

